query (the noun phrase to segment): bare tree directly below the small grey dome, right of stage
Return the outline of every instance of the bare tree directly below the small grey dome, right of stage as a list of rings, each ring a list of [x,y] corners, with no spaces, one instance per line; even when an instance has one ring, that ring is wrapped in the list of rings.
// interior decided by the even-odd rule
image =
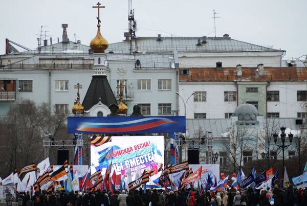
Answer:
[[[253,150],[255,143],[255,131],[248,128],[245,123],[233,124],[229,128],[229,139],[223,141],[222,144],[228,153],[227,164],[233,166],[234,173],[242,167],[243,153],[247,150]]]

